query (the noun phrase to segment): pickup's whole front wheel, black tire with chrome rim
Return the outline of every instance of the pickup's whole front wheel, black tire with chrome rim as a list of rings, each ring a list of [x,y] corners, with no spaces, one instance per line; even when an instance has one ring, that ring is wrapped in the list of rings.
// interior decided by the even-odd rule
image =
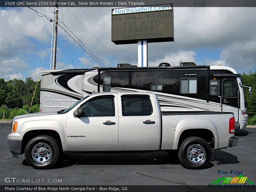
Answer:
[[[26,161],[28,165],[35,169],[51,168],[57,163],[59,156],[60,147],[58,141],[48,135],[34,137],[25,148]]]

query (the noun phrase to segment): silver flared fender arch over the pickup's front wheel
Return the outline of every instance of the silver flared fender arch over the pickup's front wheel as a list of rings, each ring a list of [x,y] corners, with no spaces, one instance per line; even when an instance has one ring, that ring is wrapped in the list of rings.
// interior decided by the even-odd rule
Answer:
[[[26,132],[35,130],[52,130],[56,131],[61,140],[61,145],[63,151],[68,151],[65,135],[65,125],[57,120],[35,120],[28,121],[21,125],[20,132],[22,133],[22,138]]]

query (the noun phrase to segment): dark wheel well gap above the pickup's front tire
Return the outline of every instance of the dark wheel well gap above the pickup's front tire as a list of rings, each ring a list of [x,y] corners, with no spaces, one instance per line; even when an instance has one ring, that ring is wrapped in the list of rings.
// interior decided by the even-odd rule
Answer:
[[[53,137],[54,139],[56,139],[58,141],[60,150],[62,150],[62,145],[61,145],[61,140],[60,140],[60,135],[58,132],[53,131],[53,130],[32,130],[32,131],[28,131],[25,133],[25,135],[22,138],[22,144],[21,144],[21,154],[23,154],[25,152],[25,148],[26,145],[28,144],[28,142],[33,139],[36,136],[39,135],[48,135]]]

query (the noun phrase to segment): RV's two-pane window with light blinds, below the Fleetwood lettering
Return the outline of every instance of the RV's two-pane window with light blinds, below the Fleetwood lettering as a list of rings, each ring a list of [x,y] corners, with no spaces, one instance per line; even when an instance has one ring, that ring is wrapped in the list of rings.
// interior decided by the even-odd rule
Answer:
[[[181,78],[180,79],[180,93],[196,94],[197,93],[197,79],[196,78]]]

